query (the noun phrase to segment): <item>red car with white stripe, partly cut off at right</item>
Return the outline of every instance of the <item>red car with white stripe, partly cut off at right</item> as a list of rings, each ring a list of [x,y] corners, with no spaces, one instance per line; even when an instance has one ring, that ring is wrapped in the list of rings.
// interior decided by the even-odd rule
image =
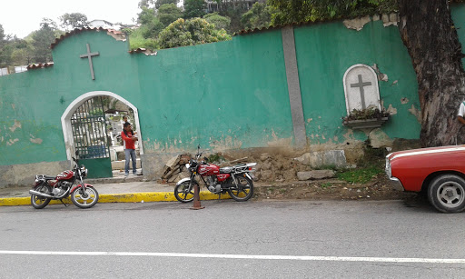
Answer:
[[[386,174],[407,192],[423,192],[443,213],[465,208],[465,145],[399,151],[386,156]]]

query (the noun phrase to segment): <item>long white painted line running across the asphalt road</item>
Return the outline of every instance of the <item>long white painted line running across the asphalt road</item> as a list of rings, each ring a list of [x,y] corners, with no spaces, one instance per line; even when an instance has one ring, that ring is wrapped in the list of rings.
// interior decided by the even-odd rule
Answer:
[[[312,255],[277,255],[277,254],[186,254],[186,253],[143,253],[143,252],[66,252],[66,251],[6,251],[6,250],[0,250],[0,254],[117,255],[117,256],[252,259],[252,260],[465,264],[465,259],[384,258],[384,257],[347,257],[347,256],[312,256]]]

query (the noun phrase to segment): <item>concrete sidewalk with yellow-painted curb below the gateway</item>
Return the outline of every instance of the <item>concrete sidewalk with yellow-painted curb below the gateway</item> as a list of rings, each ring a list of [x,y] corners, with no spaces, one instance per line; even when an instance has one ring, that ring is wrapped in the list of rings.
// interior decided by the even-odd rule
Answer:
[[[173,184],[157,184],[153,181],[144,181],[143,176],[115,175],[112,178],[86,179],[87,184],[94,185],[99,193],[98,203],[144,203],[144,202],[175,202]],[[31,204],[31,187],[10,187],[0,189],[0,206],[28,205]],[[217,194],[201,191],[201,200],[218,199]],[[229,195],[222,195],[229,198]],[[65,204],[72,204],[68,198]],[[59,200],[52,200],[50,204],[61,204]]]

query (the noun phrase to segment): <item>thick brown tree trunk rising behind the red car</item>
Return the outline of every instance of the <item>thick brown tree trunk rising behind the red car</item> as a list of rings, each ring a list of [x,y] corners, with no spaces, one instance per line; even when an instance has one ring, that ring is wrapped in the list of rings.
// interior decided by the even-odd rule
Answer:
[[[465,143],[457,121],[465,100],[461,45],[448,0],[399,0],[399,29],[417,74],[421,146]]]

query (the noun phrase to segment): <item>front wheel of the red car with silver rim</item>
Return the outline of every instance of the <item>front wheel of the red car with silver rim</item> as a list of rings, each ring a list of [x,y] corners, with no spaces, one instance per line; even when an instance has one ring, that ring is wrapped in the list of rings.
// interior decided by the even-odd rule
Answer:
[[[465,180],[455,174],[443,174],[431,181],[428,200],[443,213],[457,213],[465,208]]]

